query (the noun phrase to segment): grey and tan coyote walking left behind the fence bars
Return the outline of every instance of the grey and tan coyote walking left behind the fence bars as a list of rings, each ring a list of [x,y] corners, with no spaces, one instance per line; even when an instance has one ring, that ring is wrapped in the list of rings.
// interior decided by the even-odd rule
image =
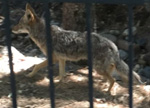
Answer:
[[[66,61],[78,61],[87,59],[87,43],[86,32],[68,31],[56,25],[51,25],[52,47],[53,47],[53,63],[59,62],[59,77],[65,76]],[[26,4],[24,16],[20,19],[18,25],[12,28],[14,33],[27,32],[30,38],[47,55],[47,46],[45,39],[45,21],[35,13],[34,9]],[[117,71],[125,82],[128,82],[128,65],[120,59],[117,46],[110,40],[96,33],[91,33],[92,41],[92,60],[93,68],[98,74],[103,75],[109,80],[110,92],[115,82],[111,76],[113,71]],[[48,61],[36,65],[28,77],[32,77],[35,73],[47,66]],[[133,72],[133,81],[138,84],[142,83],[140,76]]]

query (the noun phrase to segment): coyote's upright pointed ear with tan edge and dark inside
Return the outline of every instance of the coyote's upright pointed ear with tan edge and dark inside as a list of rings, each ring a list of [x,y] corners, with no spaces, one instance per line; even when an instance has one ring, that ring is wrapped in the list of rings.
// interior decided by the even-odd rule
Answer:
[[[36,18],[36,14],[34,12],[34,9],[30,6],[29,3],[26,4],[26,13],[27,13],[27,18],[30,21],[34,21]]]

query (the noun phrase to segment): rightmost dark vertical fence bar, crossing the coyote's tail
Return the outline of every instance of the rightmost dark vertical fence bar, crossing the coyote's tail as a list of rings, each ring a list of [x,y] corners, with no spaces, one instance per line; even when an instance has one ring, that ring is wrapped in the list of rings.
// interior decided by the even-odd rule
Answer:
[[[129,16],[129,22],[128,22],[128,27],[129,27],[129,108],[133,108],[133,73],[132,73],[132,68],[133,68],[133,35],[132,35],[132,26],[133,26],[133,6],[128,5],[128,16]]]

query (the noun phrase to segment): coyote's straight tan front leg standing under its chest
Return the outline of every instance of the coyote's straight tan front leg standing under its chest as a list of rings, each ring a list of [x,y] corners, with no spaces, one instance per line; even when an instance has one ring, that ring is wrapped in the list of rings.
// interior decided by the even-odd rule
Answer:
[[[65,65],[66,65],[66,61],[64,59],[59,59],[59,77],[60,77],[60,79],[62,79],[66,75]]]

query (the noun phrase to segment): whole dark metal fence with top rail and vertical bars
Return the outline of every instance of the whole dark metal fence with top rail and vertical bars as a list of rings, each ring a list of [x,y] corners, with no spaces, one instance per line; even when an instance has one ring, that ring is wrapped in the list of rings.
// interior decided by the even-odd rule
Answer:
[[[10,28],[10,18],[9,18],[9,1],[11,0],[3,0],[3,12],[5,13],[5,22],[4,27],[6,30],[6,44],[8,48],[9,54],[9,65],[10,65],[10,81],[11,81],[11,91],[12,91],[12,103],[13,108],[17,108],[17,100],[16,100],[16,82],[15,75],[13,72],[13,64],[12,64],[12,52],[11,52],[11,28]],[[14,0],[19,1],[19,0]],[[22,0],[27,2],[42,2],[44,3],[44,10],[46,12],[45,21],[46,21],[46,37],[47,37],[47,47],[48,50],[48,70],[50,77],[50,99],[51,99],[51,108],[55,108],[55,90],[53,83],[53,70],[52,70],[52,48],[51,46],[51,33],[49,30],[50,27],[50,12],[48,8],[49,2],[74,2],[74,3],[85,3],[86,4],[86,24],[87,24],[87,45],[88,45],[88,65],[89,65],[89,103],[90,108],[93,108],[93,79],[92,79],[92,55],[91,55],[91,38],[90,38],[90,28],[91,28],[91,4],[92,3],[103,3],[103,4],[126,4],[128,6],[128,27],[129,27],[129,107],[133,108],[133,100],[132,100],[132,59],[133,59],[133,37],[132,37],[132,24],[133,24],[133,6],[142,5],[145,2],[150,2],[149,0]],[[1,28],[0,27],[0,28]],[[49,42],[48,42],[49,41]]]

